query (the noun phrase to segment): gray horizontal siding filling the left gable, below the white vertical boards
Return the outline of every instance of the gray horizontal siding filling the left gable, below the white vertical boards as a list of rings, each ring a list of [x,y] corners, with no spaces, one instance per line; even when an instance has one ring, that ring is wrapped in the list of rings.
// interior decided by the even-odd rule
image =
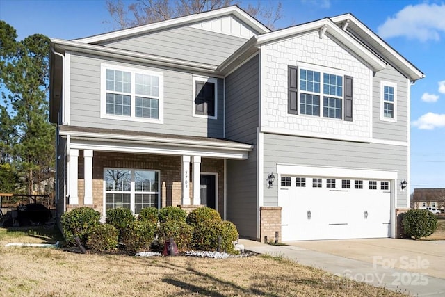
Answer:
[[[144,54],[220,65],[246,41],[244,38],[184,27],[108,42],[104,45]]]

